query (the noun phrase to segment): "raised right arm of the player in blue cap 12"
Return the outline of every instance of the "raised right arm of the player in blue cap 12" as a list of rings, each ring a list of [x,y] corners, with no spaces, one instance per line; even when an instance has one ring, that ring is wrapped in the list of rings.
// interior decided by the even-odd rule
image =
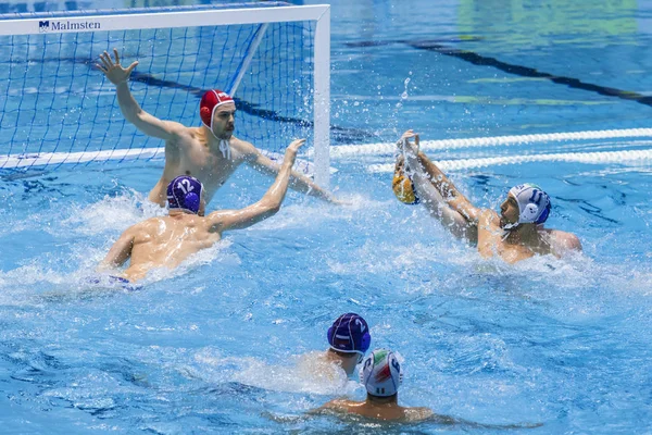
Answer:
[[[276,214],[280,210],[280,203],[288,191],[290,171],[297,158],[297,150],[304,142],[305,139],[299,139],[290,144],[276,179],[260,201],[241,210],[221,210],[209,214],[206,216],[209,231],[211,233],[222,233],[229,229],[247,228]]]

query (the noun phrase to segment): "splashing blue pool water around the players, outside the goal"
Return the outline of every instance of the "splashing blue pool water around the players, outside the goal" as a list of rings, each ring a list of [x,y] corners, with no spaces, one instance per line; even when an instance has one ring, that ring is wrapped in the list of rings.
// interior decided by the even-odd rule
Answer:
[[[410,127],[444,139],[650,125],[651,2],[434,3],[333,1],[333,123],[366,135],[338,146],[390,142]],[[640,137],[431,156],[650,148]],[[514,266],[481,260],[399,203],[390,174],[368,171],[389,162],[334,160],[331,184],[352,206],[289,194],[273,219],[135,293],[84,283],[122,231],[163,213],[146,201],[161,161],[3,173],[2,432],[650,432],[650,162],[452,171],[482,207],[516,183],[542,185],[550,226],[582,241],[582,254]],[[210,209],[249,204],[268,183],[243,167]],[[372,347],[405,359],[403,405],[489,426],[303,418],[331,398],[364,397],[354,381],[324,384],[300,369],[347,311],[368,321]]]

